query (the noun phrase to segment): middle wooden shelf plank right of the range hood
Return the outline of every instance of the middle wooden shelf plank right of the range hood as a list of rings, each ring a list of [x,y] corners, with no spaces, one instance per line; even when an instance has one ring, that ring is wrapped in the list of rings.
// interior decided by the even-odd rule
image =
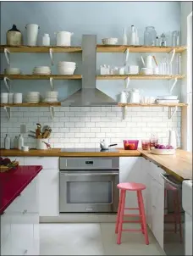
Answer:
[[[97,80],[124,80],[126,78],[131,80],[169,80],[184,77],[185,75],[96,75]]]

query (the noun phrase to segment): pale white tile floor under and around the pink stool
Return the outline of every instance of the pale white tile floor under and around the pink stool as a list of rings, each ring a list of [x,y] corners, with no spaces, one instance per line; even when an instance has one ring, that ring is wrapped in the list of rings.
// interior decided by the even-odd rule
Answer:
[[[163,255],[152,233],[123,232],[117,245],[114,223],[41,224],[41,255]]]

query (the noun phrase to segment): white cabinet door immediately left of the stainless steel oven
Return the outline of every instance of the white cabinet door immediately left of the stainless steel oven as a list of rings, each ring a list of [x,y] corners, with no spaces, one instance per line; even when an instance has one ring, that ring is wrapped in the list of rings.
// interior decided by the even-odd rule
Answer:
[[[43,169],[40,173],[40,216],[59,214],[59,170]]]

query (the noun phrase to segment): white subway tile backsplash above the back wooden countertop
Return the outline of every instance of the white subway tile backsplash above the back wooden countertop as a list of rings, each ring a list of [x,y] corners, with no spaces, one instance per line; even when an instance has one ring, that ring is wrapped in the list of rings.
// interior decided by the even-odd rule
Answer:
[[[8,133],[12,138],[20,132],[20,124],[27,124],[27,130],[35,130],[36,123],[50,125],[52,147],[99,147],[103,138],[123,147],[123,139],[140,139],[157,133],[159,142],[168,143],[168,130],[179,132],[181,111],[168,120],[168,108],[127,108],[126,119],[122,120],[122,109],[113,107],[57,107],[51,119],[48,108],[12,108],[12,118],[1,109],[1,147]],[[25,135],[25,144],[35,147],[33,138]],[[141,142],[140,144],[141,145]]]

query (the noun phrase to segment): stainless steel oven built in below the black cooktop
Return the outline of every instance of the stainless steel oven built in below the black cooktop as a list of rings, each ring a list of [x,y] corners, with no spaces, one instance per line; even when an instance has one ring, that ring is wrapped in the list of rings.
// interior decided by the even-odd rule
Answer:
[[[116,213],[119,158],[59,160],[60,213]]]

